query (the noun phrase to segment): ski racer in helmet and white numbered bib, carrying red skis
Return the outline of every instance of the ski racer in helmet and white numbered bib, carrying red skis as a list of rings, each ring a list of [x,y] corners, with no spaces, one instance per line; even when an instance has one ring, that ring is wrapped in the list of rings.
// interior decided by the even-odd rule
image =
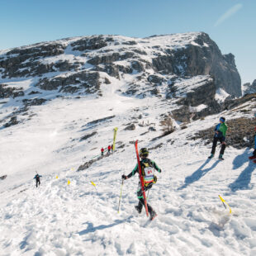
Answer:
[[[148,191],[154,183],[157,181],[157,177],[154,175],[154,169],[157,170],[159,173],[161,173],[161,169],[157,166],[157,164],[154,163],[154,161],[148,159],[149,156],[149,150],[146,148],[140,149],[140,167],[141,167],[141,173],[142,177],[144,178],[145,182],[145,187],[144,190],[145,192]],[[132,170],[130,174],[127,176],[123,174],[121,176],[122,179],[127,179],[130,178],[131,176],[134,176],[135,173],[139,173],[139,166],[136,164],[135,168]],[[144,203],[144,198],[143,198],[143,192],[141,190],[140,182],[138,185],[138,190],[137,190],[137,197],[139,199],[139,204],[138,206],[135,206],[135,209],[141,213],[143,206],[145,206]],[[149,215],[150,215],[150,220],[154,220],[154,217],[157,216],[156,212],[153,210],[151,206],[147,203],[148,210],[149,210]]]

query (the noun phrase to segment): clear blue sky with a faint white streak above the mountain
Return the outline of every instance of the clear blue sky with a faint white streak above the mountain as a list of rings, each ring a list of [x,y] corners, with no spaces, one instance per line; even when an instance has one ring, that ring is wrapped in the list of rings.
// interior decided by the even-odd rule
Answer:
[[[0,0],[0,50],[70,36],[204,31],[256,79],[256,0]]]

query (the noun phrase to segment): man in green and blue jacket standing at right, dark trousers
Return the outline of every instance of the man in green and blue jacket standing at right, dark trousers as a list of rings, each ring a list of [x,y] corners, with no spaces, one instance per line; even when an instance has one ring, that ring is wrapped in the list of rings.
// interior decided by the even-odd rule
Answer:
[[[227,129],[228,126],[225,125],[225,117],[220,117],[220,123],[215,127],[215,135],[212,141],[211,155],[209,156],[209,159],[212,159],[214,157],[217,142],[218,140],[220,140],[221,149],[219,159],[224,160],[223,154],[225,151],[225,133]]]

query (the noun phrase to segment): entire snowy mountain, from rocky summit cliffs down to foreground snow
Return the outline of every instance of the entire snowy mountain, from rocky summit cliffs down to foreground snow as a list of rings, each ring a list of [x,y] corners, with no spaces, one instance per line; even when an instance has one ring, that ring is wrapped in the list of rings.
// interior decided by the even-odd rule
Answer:
[[[230,65],[225,88],[213,68],[189,65],[192,57],[175,62],[174,52],[186,59],[181,53],[213,51],[200,38],[208,37],[91,36],[1,52],[2,255],[256,253],[255,164],[248,161],[255,95],[229,97],[240,92],[228,79],[236,72],[228,57],[214,58]],[[207,159],[220,116],[230,127],[222,162]],[[168,118],[174,131],[164,133]],[[101,157],[115,127],[116,151]],[[117,213],[121,175],[136,164],[135,140],[162,169],[149,192],[158,213],[150,223],[134,208],[137,176],[125,181]]]

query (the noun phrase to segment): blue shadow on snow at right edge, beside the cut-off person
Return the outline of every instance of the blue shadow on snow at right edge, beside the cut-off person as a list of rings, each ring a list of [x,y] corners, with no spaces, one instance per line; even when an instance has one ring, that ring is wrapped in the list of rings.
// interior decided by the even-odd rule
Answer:
[[[232,192],[238,190],[252,189],[252,186],[249,186],[252,178],[252,173],[256,164],[249,161],[249,148],[244,151],[243,154],[239,154],[233,161],[233,170],[240,168],[245,163],[248,163],[247,167],[244,168],[244,171],[239,174],[239,177],[235,180],[234,183],[230,183],[229,187]]]

